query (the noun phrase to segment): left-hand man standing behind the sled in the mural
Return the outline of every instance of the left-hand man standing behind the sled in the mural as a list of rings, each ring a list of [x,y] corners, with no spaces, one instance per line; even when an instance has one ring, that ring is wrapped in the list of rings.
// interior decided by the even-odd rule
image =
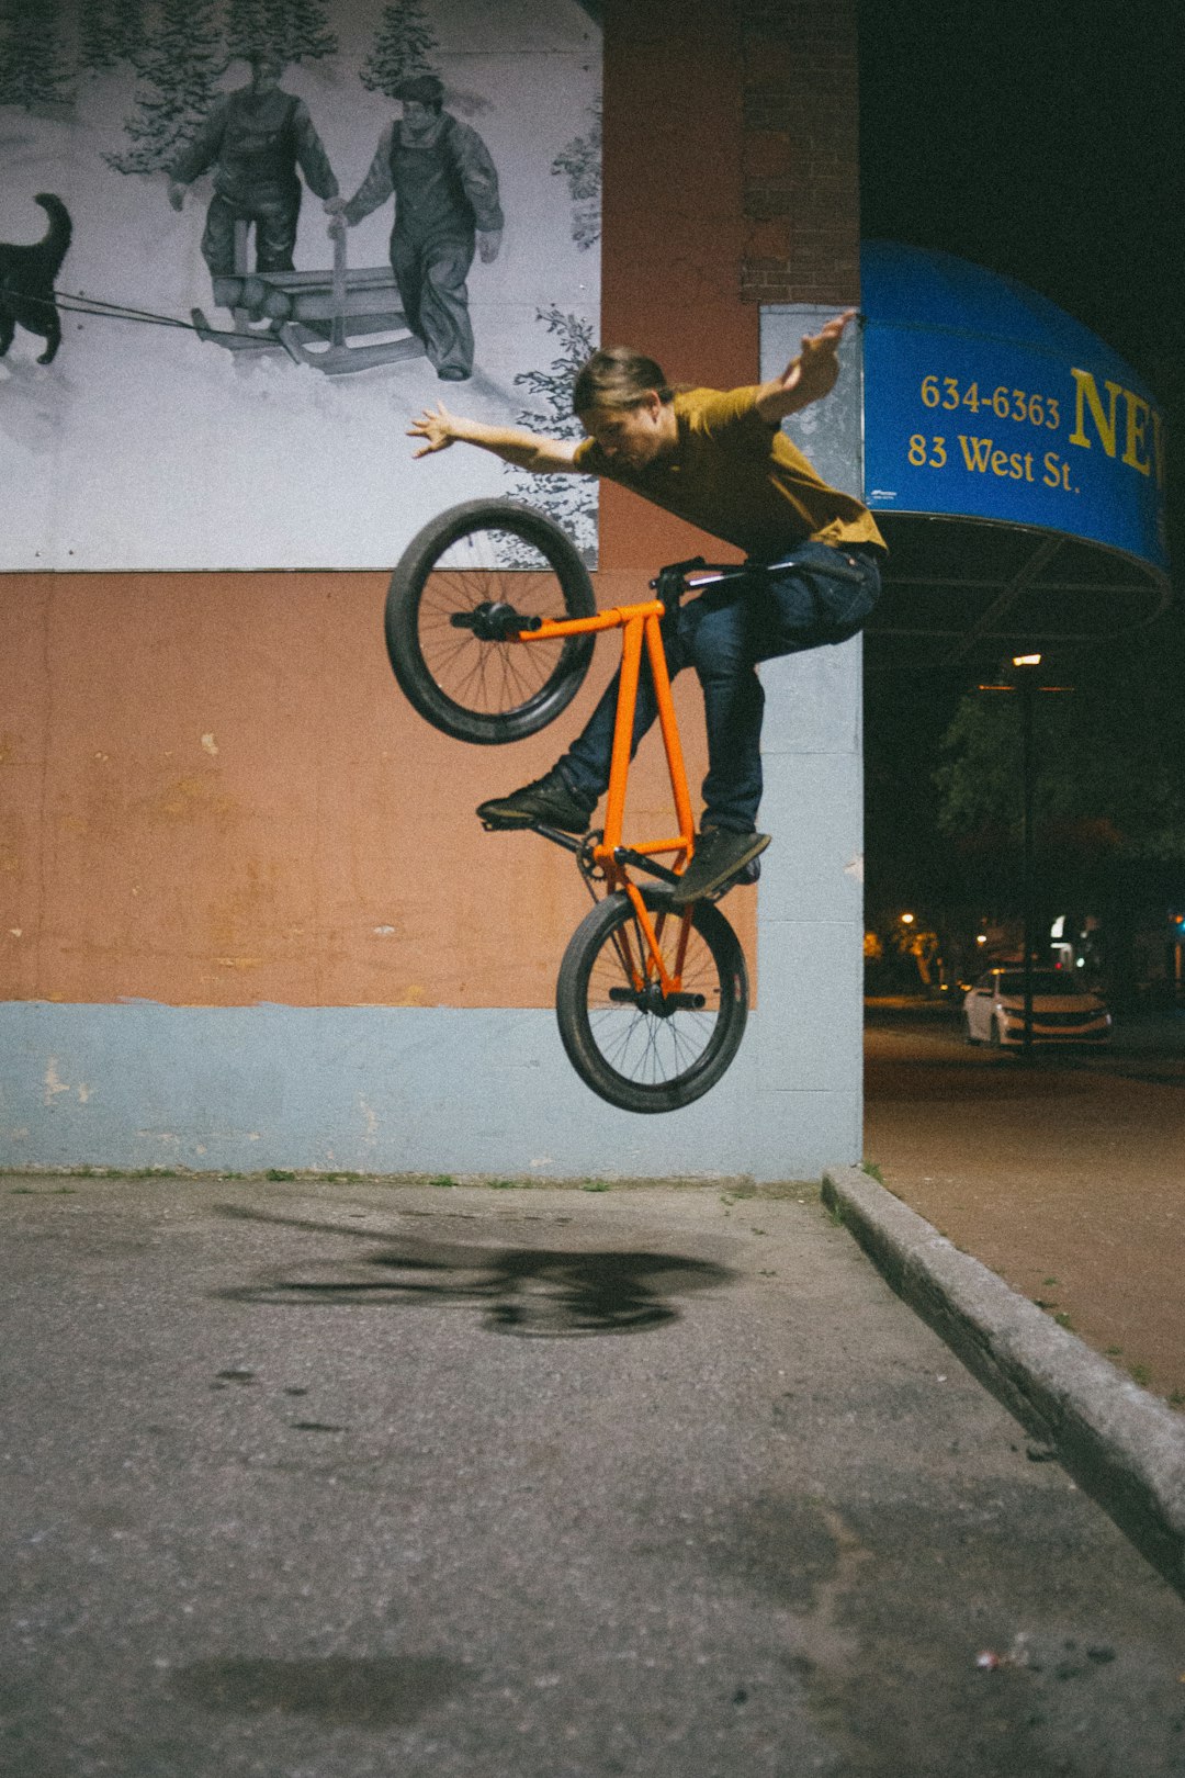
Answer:
[[[251,85],[227,92],[181,151],[169,180],[169,203],[179,210],[185,188],[213,167],[213,197],[201,251],[213,279],[215,300],[235,306],[235,224],[256,231],[256,270],[291,272],[300,217],[300,180],[329,201],[338,180],[304,100],[281,91],[284,62],[270,50],[251,57]]]

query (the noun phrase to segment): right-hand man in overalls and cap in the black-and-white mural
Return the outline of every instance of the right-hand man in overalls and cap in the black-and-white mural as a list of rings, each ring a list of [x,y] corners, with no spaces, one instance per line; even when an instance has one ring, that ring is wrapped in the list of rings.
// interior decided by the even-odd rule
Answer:
[[[435,75],[409,75],[394,96],[403,116],[378,139],[375,158],[348,203],[336,203],[330,233],[354,228],[394,196],[391,270],[407,325],[425,343],[437,377],[473,375],[473,327],[465,279],[474,252],[497,258],[503,213],[497,172],[476,130],[442,108]]]

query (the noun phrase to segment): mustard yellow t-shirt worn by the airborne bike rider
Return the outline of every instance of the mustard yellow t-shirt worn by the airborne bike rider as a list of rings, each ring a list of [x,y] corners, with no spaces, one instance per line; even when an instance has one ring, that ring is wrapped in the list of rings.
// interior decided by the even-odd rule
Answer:
[[[595,439],[576,452],[576,468],[620,482],[664,512],[771,562],[796,544],[878,544],[869,509],[830,487],[785,432],[757,412],[759,386],[679,389],[675,450],[627,469]]]

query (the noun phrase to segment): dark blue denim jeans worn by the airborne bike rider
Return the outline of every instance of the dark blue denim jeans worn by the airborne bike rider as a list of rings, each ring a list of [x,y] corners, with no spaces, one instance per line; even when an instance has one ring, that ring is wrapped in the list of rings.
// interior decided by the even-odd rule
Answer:
[[[672,679],[684,667],[695,667],[704,688],[704,827],[750,834],[757,825],[766,704],[757,663],[855,637],[879,597],[881,555],[874,546],[799,544],[776,564],[750,564],[750,574],[684,601],[663,624]],[[615,674],[583,733],[558,761],[572,793],[590,805],[609,784],[616,686]],[[657,701],[643,654],[631,750],[656,717]]]

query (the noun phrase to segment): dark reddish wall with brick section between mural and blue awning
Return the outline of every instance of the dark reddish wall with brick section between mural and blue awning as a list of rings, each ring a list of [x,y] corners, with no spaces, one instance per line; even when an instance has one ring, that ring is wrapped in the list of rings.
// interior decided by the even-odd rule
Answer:
[[[860,297],[856,0],[608,0],[604,20],[602,341],[675,382],[750,382],[759,304]],[[721,555],[602,487],[602,565],[698,549]]]

